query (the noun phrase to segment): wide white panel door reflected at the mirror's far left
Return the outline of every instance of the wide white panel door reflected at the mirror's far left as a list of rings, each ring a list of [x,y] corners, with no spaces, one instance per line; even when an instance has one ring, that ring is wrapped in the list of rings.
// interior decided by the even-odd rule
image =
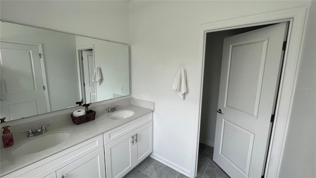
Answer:
[[[39,46],[1,42],[1,118],[47,112]]]

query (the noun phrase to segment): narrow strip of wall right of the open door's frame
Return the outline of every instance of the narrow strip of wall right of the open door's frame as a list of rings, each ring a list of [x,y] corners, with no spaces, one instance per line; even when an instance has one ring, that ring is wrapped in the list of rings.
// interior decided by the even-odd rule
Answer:
[[[312,1],[280,167],[280,178],[316,178],[315,34],[316,1]],[[299,88],[312,88],[312,90],[299,90]]]

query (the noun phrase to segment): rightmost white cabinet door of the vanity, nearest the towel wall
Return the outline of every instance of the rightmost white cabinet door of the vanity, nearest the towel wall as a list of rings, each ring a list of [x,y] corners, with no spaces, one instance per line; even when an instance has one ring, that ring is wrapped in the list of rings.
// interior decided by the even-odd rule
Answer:
[[[145,124],[133,133],[136,142],[134,145],[135,165],[137,165],[153,152],[153,122]]]

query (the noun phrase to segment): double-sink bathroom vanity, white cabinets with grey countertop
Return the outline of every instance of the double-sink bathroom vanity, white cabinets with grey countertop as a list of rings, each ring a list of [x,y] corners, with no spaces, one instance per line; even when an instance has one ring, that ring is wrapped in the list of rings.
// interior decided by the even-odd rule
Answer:
[[[123,119],[111,116],[122,111],[134,114]],[[120,107],[113,113],[104,109],[97,112],[94,121],[81,125],[68,122],[64,127],[47,130],[1,149],[1,178],[119,178],[153,152],[153,109],[135,105]],[[36,153],[12,155],[19,145],[54,133],[70,136]]]

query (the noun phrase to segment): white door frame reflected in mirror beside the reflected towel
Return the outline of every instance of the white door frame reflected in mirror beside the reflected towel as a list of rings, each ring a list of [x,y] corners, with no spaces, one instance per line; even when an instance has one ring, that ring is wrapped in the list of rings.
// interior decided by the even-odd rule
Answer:
[[[83,69],[82,69],[82,63],[81,63],[81,51],[82,50],[88,50],[88,49],[92,49],[92,54],[93,54],[93,67],[95,69],[95,59],[94,59],[94,45],[82,45],[82,46],[77,46],[76,47],[76,54],[77,54],[77,71],[78,71],[78,84],[79,84],[79,94],[80,94],[80,99],[83,98],[84,96],[84,86],[83,86]],[[98,102],[97,99],[97,87],[95,87],[95,98],[96,98],[96,102]],[[86,99],[86,98],[84,98]],[[85,101],[86,102],[86,101]]]

